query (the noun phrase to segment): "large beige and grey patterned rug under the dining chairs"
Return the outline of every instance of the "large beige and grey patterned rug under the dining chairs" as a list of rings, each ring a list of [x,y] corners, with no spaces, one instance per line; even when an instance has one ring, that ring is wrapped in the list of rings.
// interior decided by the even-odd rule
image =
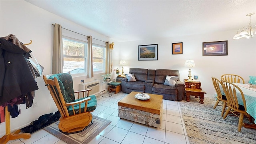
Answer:
[[[238,132],[238,117],[223,119],[222,106],[213,109],[214,98],[204,98],[200,104],[199,98],[190,96],[190,102],[179,103],[190,144],[256,144],[256,130],[242,127]],[[244,122],[250,124],[248,118]]]

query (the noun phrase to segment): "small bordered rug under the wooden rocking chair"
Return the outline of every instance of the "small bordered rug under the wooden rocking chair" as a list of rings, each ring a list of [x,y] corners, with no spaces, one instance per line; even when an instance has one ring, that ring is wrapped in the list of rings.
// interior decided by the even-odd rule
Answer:
[[[86,130],[75,134],[63,134],[60,132],[58,128],[60,121],[54,122],[49,126],[44,127],[43,129],[67,142],[68,144],[87,144],[102,130],[104,130],[104,128],[106,128],[106,126],[108,126],[108,124],[111,122],[110,120],[106,120],[98,116],[93,117],[93,124],[89,128],[86,128]]]

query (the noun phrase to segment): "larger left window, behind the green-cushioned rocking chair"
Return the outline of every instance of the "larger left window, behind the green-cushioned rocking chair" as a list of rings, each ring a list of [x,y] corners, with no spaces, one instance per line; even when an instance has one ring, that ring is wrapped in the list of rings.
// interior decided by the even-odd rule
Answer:
[[[67,36],[62,36],[62,42],[63,72],[87,73],[87,42]]]

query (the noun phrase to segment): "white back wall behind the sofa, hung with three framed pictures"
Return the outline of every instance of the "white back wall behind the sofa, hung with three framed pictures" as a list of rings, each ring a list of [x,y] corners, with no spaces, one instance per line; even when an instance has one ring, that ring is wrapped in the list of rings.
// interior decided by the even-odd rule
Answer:
[[[256,38],[233,40],[236,30],[174,38],[156,38],[132,42],[121,42],[120,58],[129,68],[172,69],[180,71],[180,79],[188,79],[186,60],[194,60],[196,68],[191,75],[198,75],[206,96],[214,96],[211,77],[220,79],[222,74],[238,74],[248,83],[248,76],[256,75]],[[202,42],[228,40],[228,56],[202,56]],[[172,54],[172,43],[183,42],[183,54]],[[158,60],[138,61],[138,45],[158,44]]]

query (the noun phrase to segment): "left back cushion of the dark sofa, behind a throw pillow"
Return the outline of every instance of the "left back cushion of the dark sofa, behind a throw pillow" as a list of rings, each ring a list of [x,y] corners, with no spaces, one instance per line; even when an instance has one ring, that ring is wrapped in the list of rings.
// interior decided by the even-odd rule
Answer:
[[[134,74],[134,77],[137,81],[145,82],[148,78],[148,69],[130,68],[129,73]]]

